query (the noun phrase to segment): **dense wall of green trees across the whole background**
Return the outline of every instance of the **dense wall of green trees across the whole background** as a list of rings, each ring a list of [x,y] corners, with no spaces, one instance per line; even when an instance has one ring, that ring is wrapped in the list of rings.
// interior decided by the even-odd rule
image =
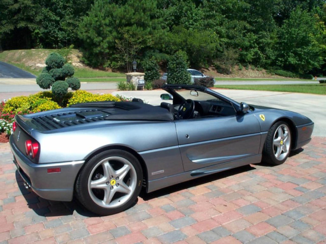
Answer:
[[[74,45],[88,65],[130,72],[150,57],[166,70],[181,50],[191,67],[229,73],[225,52],[236,50],[241,64],[326,72],[324,0],[2,0],[0,9],[0,51],[63,48],[68,59]]]

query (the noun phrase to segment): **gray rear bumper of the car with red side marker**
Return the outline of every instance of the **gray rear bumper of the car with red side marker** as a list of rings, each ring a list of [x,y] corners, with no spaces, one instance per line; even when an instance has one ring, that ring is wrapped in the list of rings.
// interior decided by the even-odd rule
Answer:
[[[10,137],[10,147],[14,155],[13,162],[25,185],[48,200],[72,200],[75,179],[85,161],[35,164],[18,150],[12,137]],[[48,173],[47,169],[51,168],[61,168],[61,172]]]

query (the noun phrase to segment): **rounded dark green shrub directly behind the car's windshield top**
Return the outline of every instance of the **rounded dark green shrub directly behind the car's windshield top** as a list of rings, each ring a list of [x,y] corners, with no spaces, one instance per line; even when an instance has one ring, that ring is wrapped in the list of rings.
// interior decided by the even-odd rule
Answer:
[[[182,51],[171,56],[168,63],[168,84],[190,84],[191,75],[187,72],[189,66],[186,54]]]

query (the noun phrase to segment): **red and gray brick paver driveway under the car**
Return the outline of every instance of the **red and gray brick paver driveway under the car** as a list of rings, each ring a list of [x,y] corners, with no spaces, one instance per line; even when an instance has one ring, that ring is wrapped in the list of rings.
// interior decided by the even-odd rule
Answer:
[[[26,192],[9,145],[0,143],[0,189],[0,243],[326,241],[324,137],[283,165],[250,165],[143,194],[106,217]]]

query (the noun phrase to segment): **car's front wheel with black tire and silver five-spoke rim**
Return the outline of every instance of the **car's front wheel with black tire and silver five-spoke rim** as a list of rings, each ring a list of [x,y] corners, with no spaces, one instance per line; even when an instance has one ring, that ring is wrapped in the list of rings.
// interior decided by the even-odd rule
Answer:
[[[270,127],[263,148],[263,162],[280,165],[285,162],[291,150],[291,130],[284,121]]]

